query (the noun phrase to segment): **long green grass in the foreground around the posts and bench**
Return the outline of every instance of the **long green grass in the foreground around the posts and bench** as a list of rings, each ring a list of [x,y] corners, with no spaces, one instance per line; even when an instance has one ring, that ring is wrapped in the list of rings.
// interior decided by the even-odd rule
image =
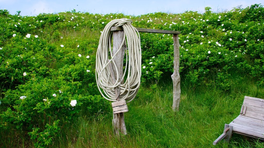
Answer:
[[[114,136],[111,110],[93,117],[82,113],[65,127],[54,147],[264,147],[257,139],[238,134],[229,144],[212,144],[224,124],[239,115],[245,95],[264,98],[263,88],[246,77],[236,77],[228,92],[211,86],[192,90],[182,82],[178,112],[171,109],[172,83],[142,86],[125,113],[128,135]]]

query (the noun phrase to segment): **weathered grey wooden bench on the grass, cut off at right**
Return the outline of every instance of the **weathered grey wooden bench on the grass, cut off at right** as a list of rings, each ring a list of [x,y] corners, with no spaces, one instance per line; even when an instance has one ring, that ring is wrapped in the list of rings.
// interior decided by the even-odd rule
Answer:
[[[225,124],[223,134],[213,145],[222,139],[229,142],[232,132],[264,140],[264,99],[245,96],[240,115]]]

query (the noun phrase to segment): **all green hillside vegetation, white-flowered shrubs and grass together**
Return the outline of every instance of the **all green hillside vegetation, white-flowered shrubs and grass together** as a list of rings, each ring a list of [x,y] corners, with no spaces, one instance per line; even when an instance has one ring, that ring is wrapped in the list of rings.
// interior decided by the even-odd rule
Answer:
[[[264,98],[264,8],[140,16],[0,10],[0,147],[209,147],[237,116],[243,95]],[[116,18],[181,31],[180,111],[173,112],[173,40],[140,33],[142,86],[112,133],[110,102],[95,82],[101,31]],[[264,147],[234,135],[220,147]],[[238,142],[237,142],[238,141]]]

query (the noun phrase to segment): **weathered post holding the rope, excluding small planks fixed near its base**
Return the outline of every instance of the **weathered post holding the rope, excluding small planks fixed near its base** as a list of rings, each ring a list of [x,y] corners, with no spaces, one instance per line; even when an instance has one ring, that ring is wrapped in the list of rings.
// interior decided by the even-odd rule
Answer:
[[[119,47],[122,44],[122,41],[124,39],[124,31],[113,31],[113,50],[112,50],[112,54],[114,55],[116,53],[116,51],[119,49]],[[119,53],[117,53],[116,57],[114,58],[114,61],[116,63],[116,66],[118,68],[118,72],[120,73],[119,76],[119,81],[123,76],[123,61],[124,61],[124,54],[125,54],[125,49],[126,49],[126,42],[123,45],[123,48],[121,49],[121,51]],[[117,72],[113,66],[113,71],[115,74],[115,78],[117,78]],[[122,82],[124,83],[124,81]],[[117,101],[119,100],[119,94],[118,92],[120,92],[120,87],[119,88],[115,88],[115,92],[116,93],[116,97],[117,97]],[[118,114],[114,114],[113,112],[113,130],[116,136],[120,135],[120,132],[124,135],[126,135],[126,125],[125,125],[125,117],[124,117],[124,113],[118,113]]]

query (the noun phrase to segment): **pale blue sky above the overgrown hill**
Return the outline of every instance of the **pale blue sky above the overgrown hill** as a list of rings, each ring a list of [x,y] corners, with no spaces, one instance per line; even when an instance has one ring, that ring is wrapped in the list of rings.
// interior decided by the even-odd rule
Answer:
[[[232,10],[242,5],[246,8],[252,4],[261,4],[263,0],[0,0],[0,9],[7,9],[10,14],[21,11],[22,16],[36,16],[39,13],[59,13],[72,11],[89,13],[123,13],[139,16],[141,14],[166,12],[183,13],[197,11],[204,13],[205,7],[211,7],[213,12]]]

